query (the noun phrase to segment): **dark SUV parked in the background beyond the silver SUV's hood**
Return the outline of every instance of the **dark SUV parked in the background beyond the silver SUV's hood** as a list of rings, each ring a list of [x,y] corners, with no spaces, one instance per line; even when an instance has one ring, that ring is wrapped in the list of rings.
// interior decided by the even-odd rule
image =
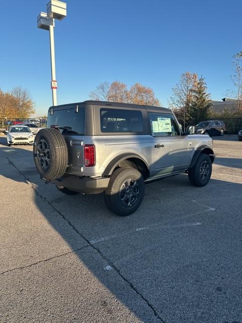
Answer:
[[[195,127],[195,133],[201,135],[223,136],[225,131],[226,128],[224,122],[218,120],[201,121]]]

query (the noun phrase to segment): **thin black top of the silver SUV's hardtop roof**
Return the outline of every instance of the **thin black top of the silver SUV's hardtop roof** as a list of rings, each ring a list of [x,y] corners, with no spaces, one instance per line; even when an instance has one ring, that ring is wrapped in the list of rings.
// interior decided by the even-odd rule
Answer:
[[[113,106],[113,107],[132,107],[132,109],[147,109],[149,111],[161,111],[161,112],[169,112],[170,110],[166,107],[161,106],[152,106],[152,105],[142,105],[142,104],[133,104],[133,103],[120,103],[120,102],[108,102],[108,101],[93,101],[93,100],[87,100],[83,102],[75,102],[75,103],[67,103],[67,104],[60,104],[60,105],[54,105],[50,106],[49,109],[57,110],[57,108],[65,108],[68,105],[78,105],[78,104],[95,104],[95,105],[107,105],[107,106]]]

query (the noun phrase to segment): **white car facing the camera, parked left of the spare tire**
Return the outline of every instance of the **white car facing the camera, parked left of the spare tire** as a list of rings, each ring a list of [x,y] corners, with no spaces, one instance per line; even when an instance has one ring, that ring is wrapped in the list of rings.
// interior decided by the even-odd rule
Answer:
[[[7,131],[8,146],[16,144],[28,144],[34,143],[34,135],[27,126],[15,125],[9,128]]]

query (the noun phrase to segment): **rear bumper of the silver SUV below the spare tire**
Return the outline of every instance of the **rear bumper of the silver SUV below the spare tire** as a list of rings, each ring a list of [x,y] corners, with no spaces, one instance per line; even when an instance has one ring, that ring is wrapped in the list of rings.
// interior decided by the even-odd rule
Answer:
[[[78,177],[65,174],[60,178],[52,180],[51,183],[83,194],[97,194],[107,188],[109,179],[109,177]]]

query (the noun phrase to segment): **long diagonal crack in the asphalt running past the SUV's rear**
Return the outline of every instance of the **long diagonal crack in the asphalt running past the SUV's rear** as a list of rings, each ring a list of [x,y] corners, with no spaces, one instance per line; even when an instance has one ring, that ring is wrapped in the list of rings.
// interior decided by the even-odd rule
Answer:
[[[25,176],[24,173],[22,173],[18,167],[13,163],[12,160],[9,159],[9,157],[7,157],[7,159],[9,160],[9,163],[16,168],[16,170],[28,181],[28,183],[31,185],[32,189],[35,191],[35,193],[41,198],[43,199],[44,201],[46,201],[72,228],[73,230],[80,236],[82,237],[86,242],[87,242],[87,246],[90,246],[91,248],[93,248],[101,257],[103,260],[105,260],[110,266],[113,267],[113,269],[115,270],[115,272],[127,283],[129,284],[129,286],[131,287],[131,289],[133,291],[135,291],[135,293],[137,295],[139,295],[143,300],[144,302],[150,307],[150,309],[153,311],[154,315],[161,321],[161,323],[165,323],[165,321],[159,316],[159,314],[157,313],[157,311],[155,310],[155,308],[152,306],[152,304],[148,301],[148,299],[146,299],[142,294],[141,292],[139,292],[136,287],[127,279],[124,277],[124,275],[120,272],[120,270],[117,268],[117,266],[110,260],[108,259],[102,252],[101,250],[94,246],[91,241],[88,240],[88,238],[86,238],[80,231],[78,231],[78,229],[71,223],[71,221],[69,219],[67,219],[64,214],[62,214],[58,209],[56,209],[52,203],[50,201],[48,201],[44,196],[42,196],[37,190],[36,188],[34,187],[34,183],[31,182],[31,180]],[[85,247],[87,247],[85,246]],[[75,252],[77,250],[74,250],[74,251],[70,251],[69,253],[71,252]],[[42,260],[44,261],[44,260]]]

